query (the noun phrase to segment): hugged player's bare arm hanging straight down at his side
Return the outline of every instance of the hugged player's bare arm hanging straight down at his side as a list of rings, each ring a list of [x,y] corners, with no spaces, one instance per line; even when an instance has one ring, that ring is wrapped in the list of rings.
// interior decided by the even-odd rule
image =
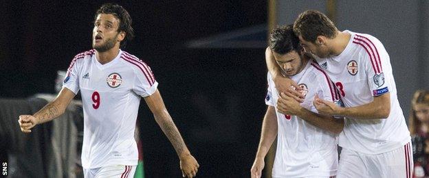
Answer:
[[[277,136],[277,129],[276,109],[272,106],[268,106],[262,123],[261,140],[259,141],[258,152],[256,152],[256,157],[252,169],[250,170],[252,178],[261,177],[262,170],[265,166],[264,157],[267,155],[268,150],[270,150],[270,147]]]

